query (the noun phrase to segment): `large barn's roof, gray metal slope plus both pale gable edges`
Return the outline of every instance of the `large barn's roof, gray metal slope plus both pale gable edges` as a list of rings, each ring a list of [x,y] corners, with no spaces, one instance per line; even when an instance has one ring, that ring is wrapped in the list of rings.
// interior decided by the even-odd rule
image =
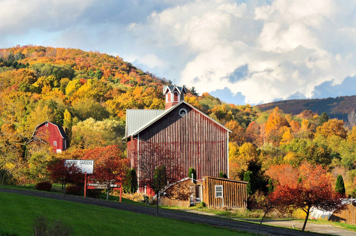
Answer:
[[[153,117],[153,118],[151,118],[151,119],[146,119],[147,120],[147,122],[146,123],[143,123],[141,126],[135,126],[135,128],[136,127],[138,127],[138,128],[136,128],[136,129],[134,129],[133,127],[131,128],[131,127],[129,127],[129,123],[127,123],[127,112],[126,112],[126,135],[125,135],[125,137],[124,138],[122,138],[122,139],[127,139],[128,137],[130,137],[130,136],[134,136],[134,135],[136,135],[136,134],[138,134],[138,133],[140,133],[142,130],[144,130],[144,129],[146,129],[147,127],[149,127],[151,124],[153,124],[154,122],[156,122],[157,120],[159,120],[159,119],[161,119],[163,116],[165,116],[166,114],[168,114],[169,112],[171,112],[174,108],[176,108],[177,106],[179,106],[179,104],[181,104],[181,103],[185,103],[185,104],[187,104],[188,106],[190,106],[192,109],[194,109],[195,111],[197,111],[197,112],[199,112],[200,114],[202,114],[203,116],[205,116],[206,118],[208,118],[208,119],[210,119],[211,121],[213,121],[214,123],[216,123],[216,124],[218,124],[219,126],[221,126],[222,128],[224,128],[224,129],[226,129],[228,132],[230,132],[230,133],[232,133],[232,131],[230,130],[230,129],[228,129],[228,128],[226,128],[224,125],[222,125],[222,124],[220,124],[219,122],[217,122],[216,120],[214,120],[214,119],[212,119],[212,118],[210,118],[209,116],[207,116],[206,114],[204,114],[203,112],[201,112],[201,111],[199,111],[197,108],[195,108],[195,107],[193,107],[192,105],[190,105],[188,102],[186,102],[186,101],[180,101],[177,105],[175,105],[175,106],[173,106],[173,107],[170,107],[169,109],[167,109],[167,110],[126,110],[126,111],[160,111],[160,113],[157,115],[157,116],[155,116],[155,117]],[[147,113],[148,114],[148,113]],[[137,112],[137,115],[141,115],[141,116],[144,116],[145,115],[145,113],[144,112],[142,112],[142,113],[140,113],[140,112]],[[144,117],[139,117],[139,116],[132,116],[132,115],[130,115],[130,119],[133,119],[133,120],[141,120],[142,119],[142,121],[143,120],[145,120],[145,118]],[[128,131],[131,131],[131,132],[128,132]]]

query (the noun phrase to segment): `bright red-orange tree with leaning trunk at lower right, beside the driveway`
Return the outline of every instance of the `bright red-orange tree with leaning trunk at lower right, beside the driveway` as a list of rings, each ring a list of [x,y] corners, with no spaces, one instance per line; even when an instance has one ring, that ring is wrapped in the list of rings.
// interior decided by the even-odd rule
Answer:
[[[284,207],[302,209],[307,214],[302,231],[307,224],[310,208],[334,212],[346,208],[341,196],[335,192],[333,180],[326,168],[316,165],[305,170],[301,177],[302,181],[299,183],[286,181],[285,184],[277,184],[273,194],[276,198],[282,199],[280,204]]]

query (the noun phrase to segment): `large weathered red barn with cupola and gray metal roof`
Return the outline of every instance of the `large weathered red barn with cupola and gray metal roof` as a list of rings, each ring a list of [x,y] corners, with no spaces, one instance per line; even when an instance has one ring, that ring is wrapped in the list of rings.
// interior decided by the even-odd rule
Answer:
[[[126,110],[127,156],[135,166],[134,153],[147,143],[174,150],[186,177],[189,167],[197,178],[229,175],[229,133],[231,130],[184,101],[185,86],[163,86],[166,110]],[[139,175],[139,170],[137,170]]]

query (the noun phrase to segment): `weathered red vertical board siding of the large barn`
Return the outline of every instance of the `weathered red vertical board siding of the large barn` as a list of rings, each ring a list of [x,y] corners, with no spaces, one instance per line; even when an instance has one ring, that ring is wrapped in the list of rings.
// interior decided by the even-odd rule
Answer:
[[[186,109],[187,115],[181,117],[180,109]],[[197,178],[204,175],[219,176],[227,172],[228,150],[227,130],[195,111],[187,104],[179,104],[166,116],[157,120],[139,134],[140,148],[145,143],[158,143],[170,149],[179,157],[188,176],[189,167],[195,168]],[[137,142],[127,141],[127,153],[137,151]],[[136,149],[135,149],[136,148]]]

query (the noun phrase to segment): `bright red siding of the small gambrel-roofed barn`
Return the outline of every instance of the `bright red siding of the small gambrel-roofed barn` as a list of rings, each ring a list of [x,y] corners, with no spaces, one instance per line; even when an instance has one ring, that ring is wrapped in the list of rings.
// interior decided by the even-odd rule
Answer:
[[[49,144],[52,145],[52,151],[56,152],[57,149],[61,149],[62,151],[68,148],[68,143],[66,139],[63,139],[59,129],[56,125],[48,122],[48,127],[46,127],[45,123],[41,124],[37,127],[37,136],[41,135],[44,140],[46,140]],[[57,142],[57,146],[54,146],[54,142]]]

